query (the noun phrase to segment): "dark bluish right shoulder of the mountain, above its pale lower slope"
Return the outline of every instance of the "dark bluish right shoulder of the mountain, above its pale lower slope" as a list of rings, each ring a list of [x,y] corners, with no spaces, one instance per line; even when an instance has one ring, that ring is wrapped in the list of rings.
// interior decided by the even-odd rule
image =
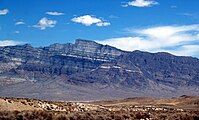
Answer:
[[[126,52],[115,61],[101,64],[87,73],[70,76],[71,81],[153,88],[151,84],[172,88],[198,87],[199,60],[168,53]]]

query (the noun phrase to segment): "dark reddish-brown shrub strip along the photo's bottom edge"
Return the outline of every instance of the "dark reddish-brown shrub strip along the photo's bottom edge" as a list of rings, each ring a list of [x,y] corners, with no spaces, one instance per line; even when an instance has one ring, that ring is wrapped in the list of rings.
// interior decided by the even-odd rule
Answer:
[[[52,111],[12,111],[0,112],[0,120],[198,120],[199,111],[167,112],[130,112],[130,111],[89,111],[89,112],[52,112]]]

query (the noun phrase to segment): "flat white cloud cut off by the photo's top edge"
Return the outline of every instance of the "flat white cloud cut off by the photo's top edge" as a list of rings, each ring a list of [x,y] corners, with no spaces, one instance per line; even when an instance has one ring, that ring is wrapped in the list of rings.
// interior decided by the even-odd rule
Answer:
[[[127,2],[122,5],[123,7],[133,6],[133,7],[151,7],[153,5],[157,5],[158,2],[153,0],[134,0],[131,2]]]

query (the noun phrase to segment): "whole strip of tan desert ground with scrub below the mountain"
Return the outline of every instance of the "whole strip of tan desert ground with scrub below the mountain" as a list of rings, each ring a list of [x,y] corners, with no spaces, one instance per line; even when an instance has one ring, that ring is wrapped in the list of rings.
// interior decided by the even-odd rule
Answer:
[[[17,111],[11,108],[2,110],[0,104],[0,120],[199,120],[198,105],[194,104],[198,102],[197,97],[186,99],[181,97],[180,99],[165,100],[166,102],[161,100],[159,105],[157,105],[158,100],[153,105],[150,101],[149,105],[145,99],[149,101],[147,98],[135,98],[123,101],[67,103],[6,98],[6,101],[2,99],[2,105],[3,102],[13,106],[20,103],[22,107],[30,107],[30,104],[32,107]],[[135,101],[140,101],[140,104],[132,105]],[[178,106],[170,105],[171,102],[175,103],[176,101]],[[179,101],[182,104],[179,104]],[[189,104],[192,105],[192,108],[188,107]],[[34,109],[34,106],[37,106],[35,108],[38,109]],[[182,107],[183,109],[181,109]]]

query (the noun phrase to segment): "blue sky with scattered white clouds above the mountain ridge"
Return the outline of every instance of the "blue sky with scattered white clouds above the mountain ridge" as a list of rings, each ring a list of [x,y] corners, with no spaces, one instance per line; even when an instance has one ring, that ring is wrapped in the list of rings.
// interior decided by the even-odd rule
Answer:
[[[95,40],[199,57],[198,0],[0,0],[0,46]]]

